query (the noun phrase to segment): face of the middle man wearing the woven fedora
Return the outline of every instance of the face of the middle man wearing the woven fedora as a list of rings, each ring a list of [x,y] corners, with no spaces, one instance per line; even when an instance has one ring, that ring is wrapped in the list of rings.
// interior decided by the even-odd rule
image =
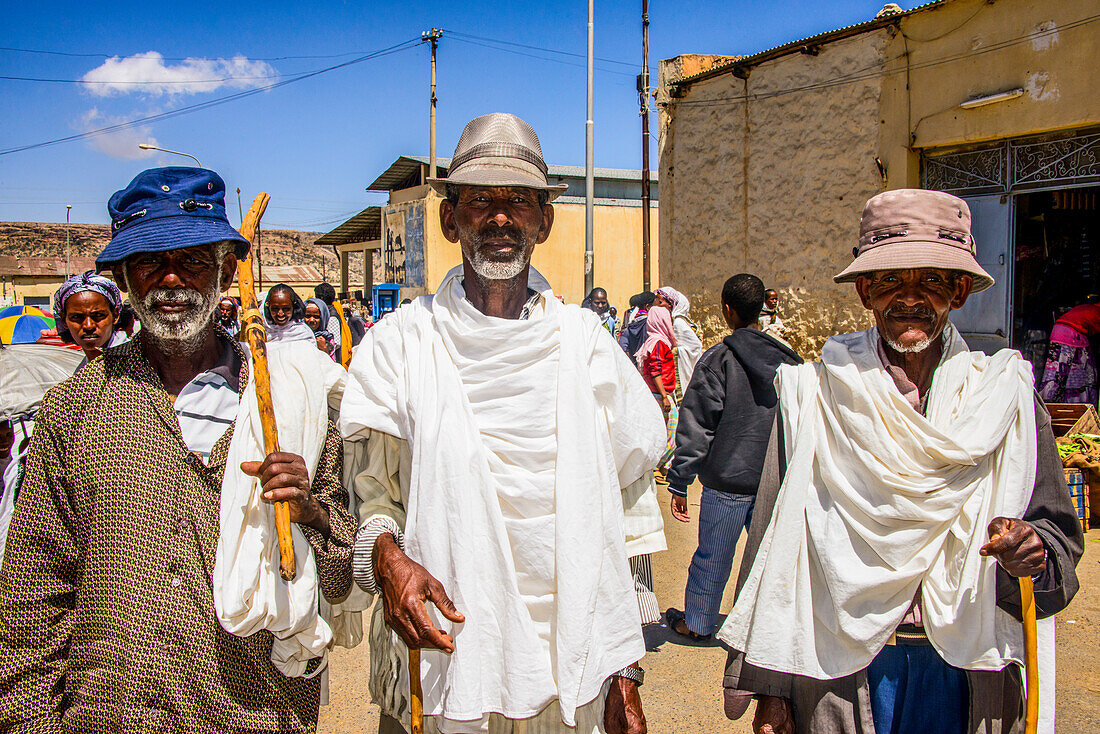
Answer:
[[[459,200],[444,199],[439,219],[443,235],[461,245],[477,275],[504,281],[522,273],[535,245],[550,235],[553,207],[540,205],[531,188],[459,186]]]

